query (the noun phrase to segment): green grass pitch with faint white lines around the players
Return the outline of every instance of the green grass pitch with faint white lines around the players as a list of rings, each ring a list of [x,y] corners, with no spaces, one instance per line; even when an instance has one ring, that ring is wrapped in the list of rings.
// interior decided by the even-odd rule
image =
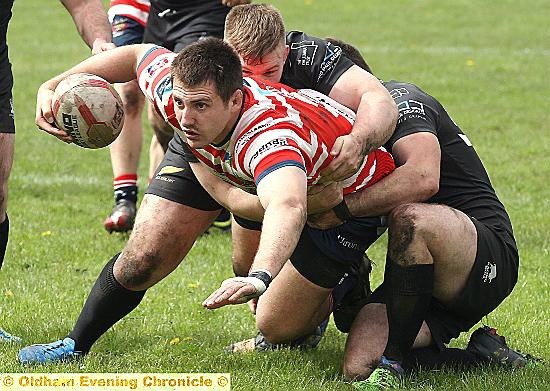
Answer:
[[[510,345],[550,359],[550,8],[546,0],[442,2],[279,0],[288,29],[347,40],[382,79],[417,83],[440,98],[468,134],[507,206],[521,253],[512,295],[487,322]],[[88,55],[57,1],[16,0],[8,35],[15,74],[12,223],[0,273],[0,326],[28,343],[71,329],[106,261],[127,237],[101,225],[111,208],[108,150],[68,146],[37,131],[41,82]],[[146,163],[146,156],[144,163]],[[145,187],[146,164],[140,171]],[[383,240],[382,240],[383,242]],[[331,324],[313,352],[241,356],[222,347],[255,333],[247,308],[200,303],[231,276],[230,238],[201,238],[182,266],[107,332],[84,360],[21,367],[0,345],[2,372],[230,372],[234,390],[350,390],[345,336]],[[384,243],[369,250],[381,280]],[[171,344],[175,338],[178,343]],[[454,342],[463,346],[468,336]],[[545,369],[421,373],[412,390],[548,390]]]

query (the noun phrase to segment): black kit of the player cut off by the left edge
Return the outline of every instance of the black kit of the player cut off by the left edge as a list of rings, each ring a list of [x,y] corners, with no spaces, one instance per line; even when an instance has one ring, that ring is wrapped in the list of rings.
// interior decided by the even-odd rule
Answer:
[[[15,133],[13,115],[13,74],[8,58],[7,31],[13,1],[0,7],[0,133]]]

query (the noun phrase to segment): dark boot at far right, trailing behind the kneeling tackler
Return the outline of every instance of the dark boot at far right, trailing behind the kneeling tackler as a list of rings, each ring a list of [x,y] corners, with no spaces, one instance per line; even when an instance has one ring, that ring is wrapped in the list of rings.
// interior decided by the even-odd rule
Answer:
[[[537,366],[542,361],[508,346],[506,339],[493,327],[483,326],[474,331],[466,350],[482,360],[511,368]]]

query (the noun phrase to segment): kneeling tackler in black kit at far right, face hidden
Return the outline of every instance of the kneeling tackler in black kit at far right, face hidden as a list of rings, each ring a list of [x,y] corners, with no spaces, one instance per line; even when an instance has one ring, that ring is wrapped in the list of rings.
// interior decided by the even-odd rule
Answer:
[[[353,46],[328,40],[371,72]],[[385,144],[398,167],[345,202],[351,215],[388,214],[386,272],[348,336],[345,376],[357,389],[379,389],[398,386],[403,367],[534,363],[488,326],[472,333],[466,350],[446,347],[514,288],[512,224],[472,143],[443,106],[413,84],[383,84],[400,112]],[[330,211],[324,218],[318,227],[339,223]]]

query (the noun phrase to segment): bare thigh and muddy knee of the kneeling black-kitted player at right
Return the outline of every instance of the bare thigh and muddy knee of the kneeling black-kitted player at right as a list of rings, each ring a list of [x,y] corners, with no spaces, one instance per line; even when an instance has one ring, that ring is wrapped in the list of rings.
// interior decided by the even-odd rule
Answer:
[[[397,252],[403,251],[400,235],[412,232],[409,251],[433,259],[433,295],[442,302],[454,300],[476,256],[477,233],[470,217],[445,205],[407,204],[392,211],[388,231],[390,257],[397,257],[396,248]]]

